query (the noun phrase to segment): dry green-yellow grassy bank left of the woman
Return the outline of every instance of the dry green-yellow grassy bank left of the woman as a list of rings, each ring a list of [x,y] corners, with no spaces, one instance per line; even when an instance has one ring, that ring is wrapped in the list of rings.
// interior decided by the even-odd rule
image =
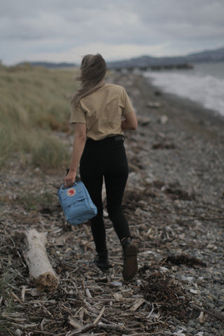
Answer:
[[[43,169],[69,160],[54,132],[69,131],[73,76],[73,70],[0,66],[0,169],[12,155]]]

